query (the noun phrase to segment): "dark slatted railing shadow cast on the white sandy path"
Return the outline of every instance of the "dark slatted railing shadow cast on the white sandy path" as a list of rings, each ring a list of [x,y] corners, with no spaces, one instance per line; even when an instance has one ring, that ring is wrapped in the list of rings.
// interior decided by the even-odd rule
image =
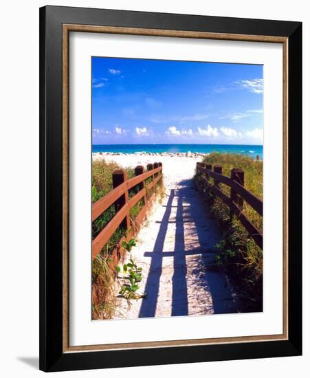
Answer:
[[[151,258],[151,265],[145,287],[147,296],[142,300],[139,318],[155,317],[163,258],[171,256],[171,316],[188,315],[189,300],[198,302],[197,315],[237,312],[225,275],[214,264],[214,245],[221,237],[217,225],[208,218],[206,205],[195,191],[192,180],[181,181],[178,187],[170,190],[162,221],[157,222],[160,226],[153,252],[144,253]],[[177,206],[173,205],[175,198]],[[174,215],[172,209],[175,207]],[[173,251],[164,251],[169,223],[175,223],[175,247]],[[192,244],[186,245],[186,241]]]

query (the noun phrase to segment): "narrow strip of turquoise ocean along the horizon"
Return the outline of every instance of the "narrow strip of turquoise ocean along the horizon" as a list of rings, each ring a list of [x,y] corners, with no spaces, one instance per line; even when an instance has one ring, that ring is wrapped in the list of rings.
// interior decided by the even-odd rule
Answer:
[[[93,144],[93,153],[239,153],[263,159],[263,146],[245,144]]]

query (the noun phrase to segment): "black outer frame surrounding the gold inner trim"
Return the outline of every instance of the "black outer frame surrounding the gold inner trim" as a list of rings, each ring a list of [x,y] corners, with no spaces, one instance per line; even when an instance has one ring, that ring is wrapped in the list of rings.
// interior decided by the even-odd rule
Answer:
[[[289,38],[289,340],[63,353],[62,25]],[[187,14],[40,8],[40,369],[113,368],[302,354],[302,23]]]

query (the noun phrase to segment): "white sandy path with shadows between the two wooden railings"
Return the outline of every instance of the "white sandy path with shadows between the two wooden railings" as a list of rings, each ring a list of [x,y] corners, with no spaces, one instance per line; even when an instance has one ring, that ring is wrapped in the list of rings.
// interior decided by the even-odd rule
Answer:
[[[195,171],[193,162],[192,174]],[[214,263],[220,241],[191,177],[165,180],[166,196],[137,236],[132,255],[143,267],[143,300],[120,299],[119,318],[236,312],[227,277]]]

